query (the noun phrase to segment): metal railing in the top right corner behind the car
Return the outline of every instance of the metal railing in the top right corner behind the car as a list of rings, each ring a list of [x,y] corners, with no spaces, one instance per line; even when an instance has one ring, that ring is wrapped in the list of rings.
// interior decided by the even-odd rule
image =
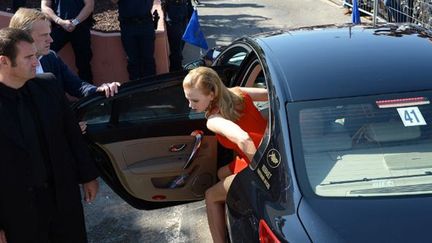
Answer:
[[[352,8],[352,0],[342,0]],[[359,11],[379,21],[414,23],[432,28],[432,0],[357,0]]]

